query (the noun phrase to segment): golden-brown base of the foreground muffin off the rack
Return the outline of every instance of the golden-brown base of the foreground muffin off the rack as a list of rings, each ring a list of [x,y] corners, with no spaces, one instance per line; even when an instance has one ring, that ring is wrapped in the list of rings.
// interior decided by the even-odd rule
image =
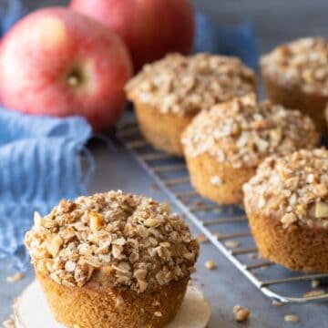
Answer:
[[[67,287],[37,272],[36,278],[56,321],[69,328],[164,327],[178,313],[189,281],[186,277],[156,292],[138,294],[101,286]],[[118,297],[124,300],[121,305]],[[158,312],[162,315],[156,316]]]

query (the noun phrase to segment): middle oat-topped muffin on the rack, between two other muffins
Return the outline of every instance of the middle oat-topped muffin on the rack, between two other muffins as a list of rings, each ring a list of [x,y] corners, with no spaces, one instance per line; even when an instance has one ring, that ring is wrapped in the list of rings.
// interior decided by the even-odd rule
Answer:
[[[263,159],[314,148],[318,134],[301,112],[247,95],[200,112],[182,144],[195,190],[220,204],[237,204]]]

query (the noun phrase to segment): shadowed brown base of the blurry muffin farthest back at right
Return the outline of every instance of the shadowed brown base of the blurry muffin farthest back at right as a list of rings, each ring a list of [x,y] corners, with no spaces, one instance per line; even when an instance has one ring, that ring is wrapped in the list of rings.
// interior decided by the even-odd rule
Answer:
[[[286,108],[299,109],[303,114],[313,119],[318,132],[328,133],[328,125],[324,110],[328,97],[315,93],[305,93],[299,87],[282,86],[276,80],[262,73],[268,97],[273,103],[281,104]]]

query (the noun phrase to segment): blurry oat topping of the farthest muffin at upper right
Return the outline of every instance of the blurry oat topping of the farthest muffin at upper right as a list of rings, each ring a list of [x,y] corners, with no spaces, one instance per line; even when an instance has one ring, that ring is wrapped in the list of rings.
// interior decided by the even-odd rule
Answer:
[[[328,42],[321,37],[278,46],[261,58],[261,69],[282,85],[328,96]]]

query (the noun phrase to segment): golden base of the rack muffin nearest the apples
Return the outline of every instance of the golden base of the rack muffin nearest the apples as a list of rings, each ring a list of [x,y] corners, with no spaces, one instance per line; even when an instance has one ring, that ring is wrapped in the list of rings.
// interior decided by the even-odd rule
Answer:
[[[155,149],[183,156],[180,136],[190,124],[193,116],[179,117],[170,113],[162,114],[157,108],[139,102],[135,102],[134,107],[142,134],[149,143]]]

